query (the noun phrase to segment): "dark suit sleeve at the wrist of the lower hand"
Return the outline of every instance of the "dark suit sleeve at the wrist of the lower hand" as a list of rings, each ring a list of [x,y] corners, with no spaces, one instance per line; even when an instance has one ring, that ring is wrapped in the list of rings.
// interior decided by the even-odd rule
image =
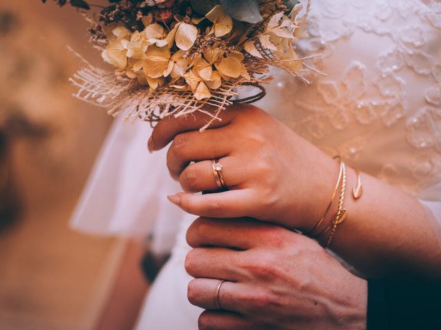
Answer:
[[[441,281],[368,280],[367,330],[441,330]]]

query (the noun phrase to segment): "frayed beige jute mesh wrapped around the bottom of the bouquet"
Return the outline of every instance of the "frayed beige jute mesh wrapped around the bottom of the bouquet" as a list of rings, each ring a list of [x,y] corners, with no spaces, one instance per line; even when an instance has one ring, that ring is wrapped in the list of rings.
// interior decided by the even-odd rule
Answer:
[[[265,96],[263,84],[272,80],[268,75],[269,65],[287,70],[285,62],[275,60],[272,54],[267,54],[263,61],[250,58],[245,62],[252,74],[250,79],[240,77],[225,81],[219,89],[212,91],[212,98],[197,100],[191,90],[176,89],[168,85],[150,91],[148,86],[140,85],[136,79],[115,77],[113,70],[95,67],[85,61],[81,55],[76,52],[74,54],[81,58],[84,65],[83,69],[69,79],[77,89],[74,94],[76,98],[104,107],[107,113],[114,117],[123,114],[125,120],[141,119],[152,124],[169,115],[178,118],[197,112],[205,113],[210,119],[201,127],[201,131],[207,129],[214,120],[220,120],[219,113],[230,105],[236,102],[252,103],[263,98]],[[298,58],[289,62],[299,61],[301,66],[304,60],[305,58]],[[290,73],[303,79],[298,72]],[[258,93],[237,99],[240,89],[245,87],[256,87]]]

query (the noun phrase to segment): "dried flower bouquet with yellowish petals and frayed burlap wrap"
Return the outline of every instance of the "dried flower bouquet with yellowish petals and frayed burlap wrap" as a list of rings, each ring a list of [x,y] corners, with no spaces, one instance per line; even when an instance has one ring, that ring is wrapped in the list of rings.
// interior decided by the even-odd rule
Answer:
[[[107,1],[94,18],[87,1],[69,3],[91,22],[91,41],[114,69],[85,62],[70,81],[76,97],[112,115],[155,122],[201,111],[216,120],[241,87],[258,89],[241,102],[265,96],[269,66],[300,78],[306,66],[294,43],[307,36],[309,2],[299,17],[296,0]]]

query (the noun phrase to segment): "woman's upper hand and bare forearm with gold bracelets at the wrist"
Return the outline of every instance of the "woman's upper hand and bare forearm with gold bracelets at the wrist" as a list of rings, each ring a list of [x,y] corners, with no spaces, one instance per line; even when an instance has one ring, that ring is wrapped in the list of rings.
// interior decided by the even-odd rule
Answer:
[[[294,111],[294,110],[293,110]],[[170,200],[201,217],[252,217],[309,231],[325,213],[338,177],[338,162],[256,107],[234,105],[222,121],[197,114],[165,118],[149,140],[167,153],[170,173],[184,190]],[[229,190],[216,190],[211,159],[220,159]],[[192,163],[195,162],[195,163]],[[347,190],[356,182],[348,168]],[[430,215],[412,196],[362,173],[363,195],[347,191],[347,219],[330,248],[365,276],[440,278],[441,249]],[[336,203],[322,228],[331,223]],[[319,237],[326,243],[327,235]]]

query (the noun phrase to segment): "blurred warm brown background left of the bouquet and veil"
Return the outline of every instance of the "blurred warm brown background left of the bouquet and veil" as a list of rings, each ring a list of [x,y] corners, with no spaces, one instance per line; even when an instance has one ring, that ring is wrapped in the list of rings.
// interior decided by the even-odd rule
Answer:
[[[112,118],[72,97],[101,63],[88,23],[53,1],[0,1],[0,329],[89,329],[122,243],[69,218]]]

